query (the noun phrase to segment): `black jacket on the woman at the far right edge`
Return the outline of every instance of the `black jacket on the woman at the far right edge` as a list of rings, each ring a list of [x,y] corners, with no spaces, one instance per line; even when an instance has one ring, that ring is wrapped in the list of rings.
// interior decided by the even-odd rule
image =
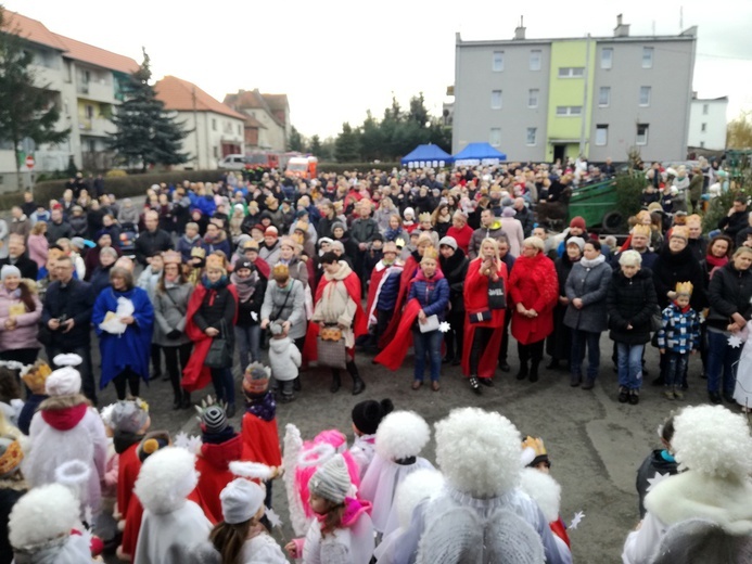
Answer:
[[[752,318],[752,270],[737,270],[734,262],[719,268],[708,290],[710,315],[708,325],[726,331],[734,313]]]

